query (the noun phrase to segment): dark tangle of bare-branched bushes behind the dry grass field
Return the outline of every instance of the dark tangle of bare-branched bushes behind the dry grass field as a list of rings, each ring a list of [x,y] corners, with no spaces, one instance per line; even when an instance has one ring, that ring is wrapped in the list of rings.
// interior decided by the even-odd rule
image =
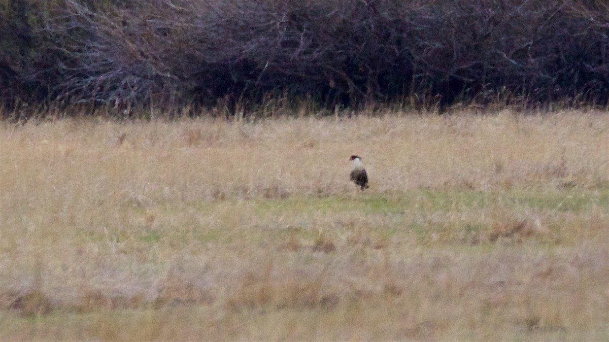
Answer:
[[[608,52],[600,0],[0,0],[3,113],[606,106]]]

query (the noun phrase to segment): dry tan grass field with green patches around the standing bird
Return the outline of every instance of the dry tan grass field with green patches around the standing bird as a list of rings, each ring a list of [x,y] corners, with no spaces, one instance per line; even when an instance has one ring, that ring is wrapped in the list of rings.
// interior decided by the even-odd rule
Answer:
[[[0,340],[609,340],[608,152],[594,112],[0,122]]]

